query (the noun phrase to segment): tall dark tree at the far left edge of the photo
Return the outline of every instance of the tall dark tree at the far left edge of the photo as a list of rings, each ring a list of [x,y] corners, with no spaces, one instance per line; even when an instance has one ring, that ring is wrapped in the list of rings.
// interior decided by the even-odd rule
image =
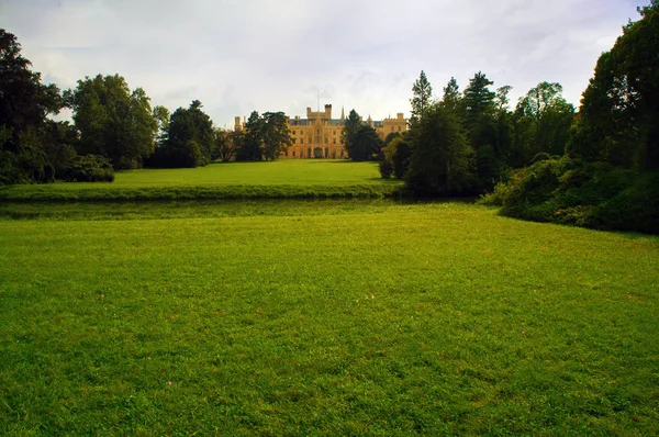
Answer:
[[[49,182],[47,120],[64,105],[55,85],[30,69],[16,37],[0,29],[0,184]]]

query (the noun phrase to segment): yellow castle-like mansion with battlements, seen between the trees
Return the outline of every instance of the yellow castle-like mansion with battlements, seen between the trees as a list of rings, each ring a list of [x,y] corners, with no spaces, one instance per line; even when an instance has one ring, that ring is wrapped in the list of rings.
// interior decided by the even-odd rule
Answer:
[[[241,131],[244,122],[236,116],[235,130]],[[373,127],[381,139],[393,132],[403,133],[407,130],[407,121],[403,113],[398,113],[395,119],[372,121],[370,115],[364,122]],[[344,125],[346,124],[345,112],[340,111],[340,119],[332,119],[332,105],[326,104],[325,111],[313,112],[306,108],[306,119],[294,116],[288,120],[288,127],[293,144],[280,158],[347,158],[344,143],[340,141]]]

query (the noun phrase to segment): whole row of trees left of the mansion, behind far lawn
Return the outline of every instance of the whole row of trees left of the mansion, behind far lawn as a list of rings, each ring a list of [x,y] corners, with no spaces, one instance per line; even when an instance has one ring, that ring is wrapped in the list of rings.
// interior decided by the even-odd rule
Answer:
[[[0,184],[112,181],[114,170],[277,159],[291,144],[282,112],[253,112],[243,131],[217,128],[199,100],[152,108],[119,75],[42,83],[16,37],[0,29]],[[72,123],[51,119],[65,108]]]

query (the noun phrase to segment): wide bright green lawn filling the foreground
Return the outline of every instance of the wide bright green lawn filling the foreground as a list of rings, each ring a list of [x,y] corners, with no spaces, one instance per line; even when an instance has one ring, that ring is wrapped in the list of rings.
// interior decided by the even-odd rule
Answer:
[[[0,434],[659,434],[658,238],[287,208],[0,220]]]

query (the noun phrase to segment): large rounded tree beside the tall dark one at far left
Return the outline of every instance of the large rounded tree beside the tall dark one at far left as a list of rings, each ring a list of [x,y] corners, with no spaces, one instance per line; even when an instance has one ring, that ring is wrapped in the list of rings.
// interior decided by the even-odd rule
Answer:
[[[131,91],[123,77],[98,75],[65,96],[80,132],[78,153],[104,156],[115,169],[139,167],[154,153],[158,124],[142,88]]]

